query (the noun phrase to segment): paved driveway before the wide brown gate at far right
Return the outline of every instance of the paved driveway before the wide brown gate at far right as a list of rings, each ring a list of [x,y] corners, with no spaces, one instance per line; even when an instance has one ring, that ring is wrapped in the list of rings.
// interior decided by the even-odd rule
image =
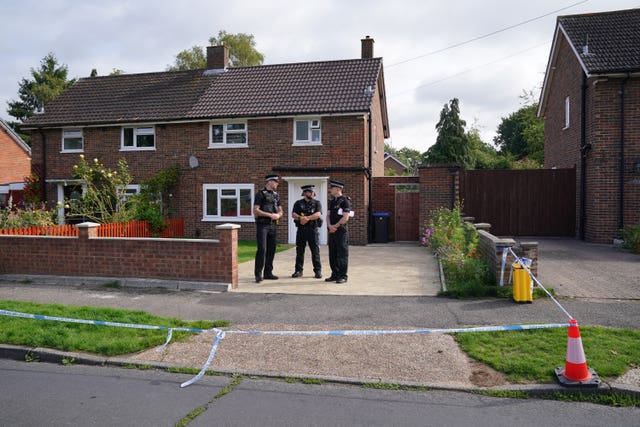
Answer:
[[[640,300],[640,255],[613,245],[540,238],[538,278],[563,297]]]

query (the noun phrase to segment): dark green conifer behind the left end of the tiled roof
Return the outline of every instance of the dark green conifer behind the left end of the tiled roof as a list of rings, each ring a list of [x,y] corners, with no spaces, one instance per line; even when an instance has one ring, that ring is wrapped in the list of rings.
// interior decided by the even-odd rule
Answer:
[[[18,87],[20,100],[8,102],[7,113],[24,122],[75,83],[75,79],[67,79],[67,74],[67,66],[59,65],[53,53],[47,54],[39,69],[31,68],[31,80],[22,79]]]

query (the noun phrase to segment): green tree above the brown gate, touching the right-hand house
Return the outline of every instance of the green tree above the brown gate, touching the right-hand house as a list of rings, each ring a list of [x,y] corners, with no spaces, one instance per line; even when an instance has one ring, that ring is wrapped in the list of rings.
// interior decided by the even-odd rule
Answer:
[[[525,105],[508,117],[503,117],[493,139],[502,155],[511,155],[516,160],[528,158],[537,163],[544,162],[544,120],[537,116],[538,104],[531,93],[520,97]]]

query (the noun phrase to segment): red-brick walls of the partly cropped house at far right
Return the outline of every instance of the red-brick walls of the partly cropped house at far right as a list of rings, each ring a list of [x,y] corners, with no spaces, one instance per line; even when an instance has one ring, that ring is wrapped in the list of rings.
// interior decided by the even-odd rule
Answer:
[[[548,83],[545,117],[545,168],[576,167],[576,236],[580,231],[581,85],[582,69],[570,46],[560,37],[553,78]],[[591,144],[585,168],[584,237],[611,243],[618,234],[620,215],[621,92],[624,78],[589,78],[586,81],[585,137]],[[640,79],[624,81],[625,165],[624,224],[640,222]],[[571,100],[570,125],[565,128],[564,102]]]

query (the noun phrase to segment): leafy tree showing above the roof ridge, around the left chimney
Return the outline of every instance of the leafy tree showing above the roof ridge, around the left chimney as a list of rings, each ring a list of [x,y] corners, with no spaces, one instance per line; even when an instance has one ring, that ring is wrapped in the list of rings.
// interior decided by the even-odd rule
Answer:
[[[256,50],[253,35],[245,33],[231,34],[222,30],[218,36],[209,38],[211,46],[227,46],[229,48],[229,65],[231,67],[252,67],[262,65],[264,55]],[[204,48],[193,46],[176,55],[173,65],[167,71],[198,70],[206,68],[207,58]]]

